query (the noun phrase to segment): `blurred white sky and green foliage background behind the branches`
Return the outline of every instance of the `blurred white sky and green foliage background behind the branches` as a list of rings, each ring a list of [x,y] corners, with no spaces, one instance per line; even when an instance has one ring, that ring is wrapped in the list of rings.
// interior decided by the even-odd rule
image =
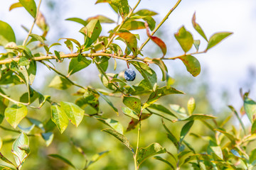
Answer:
[[[26,38],[26,31],[21,28],[26,26],[31,27],[33,18],[26,12],[24,8],[15,8],[9,11],[9,6],[16,1],[0,0],[0,20],[9,23],[16,33],[16,39],[18,44],[22,44],[23,39]],[[38,1],[36,1],[38,3]],[[134,6],[137,1],[130,0],[130,6]],[[137,10],[142,8],[148,8],[152,11],[156,11],[159,15],[155,16],[156,24],[164,18],[176,1],[161,0],[143,0],[139,4]],[[117,14],[112,11],[108,4],[97,4],[95,1],[82,1],[82,0],[45,0],[41,5],[41,11],[46,17],[46,22],[50,26],[49,33],[46,37],[48,44],[58,42],[58,38],[75,38],[82,42],[83,36],[78,33],[82,25],[71,21],[65,21],[66,18],[78,17],[89,18],[96,16],[97,14],[105,15],[112,20],[117,21]],[[188,98],[193,96],[196,99],[197,107],[196,113],[206,113],[225,118],[230,115],[227,105],[231,104],[238,110],[242,106],[242,99],[240,97],[239,89],[243,91],[250,90],[250,97],[256,98],[256,60],[255,60],[255,39],[256,39],[256,1],[254,0],[183,0],[179,4],[178,8],[169,16],[169,19],[156,33],[167,45],[168,57],[174,57],[182,55],[181,47],[174,38],[174,33],[185,26],[187,30],[191,31],[194,39],[201,39],[200,35],[193,29],[191,18],[193,13],[196,12],[196,21],[203,28],[206,36],[210,38],[215,32],[231,31],[234,34],[229,38],[220,42],[213,49],[209,50],[206,54],[197,55],[199,62],[201,62],[201,74],[198,77],[192,77],[191,74],[186,72],[186,67],[179,60],[173,60],[167,63],[169,69],[169,75],[176,81],[174,86],[186,92],[186,96],[170,96],[161,100],[166,106],[170,103],[179,104],[186,107]],[[114,28],[113,24],[102,24],[102,35],[107,35],[107,31]],[[41,34],[41,30],[37,27],[33,29],[33,33]],[[145,30],[139,30],[141,41],[139,45],[146,39]],[[63,41],[60,40],[63,44]],[[201,39],[201,50],[206,47],[206,42]],[[61,50],[68,53],[65,45],[63,47],[53,47],[55,50]],[[4,52],[3,48],[0,48],[0,52]],[[144,47],[144,54],[148,57],[161,57],[161,51],[154,43],[149,42]],[[159,55],[160,54],[160,55]],[[43,91],[44,94],[51,94],[55,101],[70,101],[74,102],[76,96],[71,94],[75,93],[77,88],[73,87],[63,93],[55,89],[49,89],[47,86],[50,80],[55,76],[52,72],[42,65],[38,65],[37,78],[34,81],[33,88],[38,91]],[[56,64],[56,67],[62,72],[67,72],[68,61],[62,64]],[[118,67],[115,72],[124,71],[125,63],[118,62]],[[159,78],[161,78],[161,72],[156,69]],[[113,70],[108,69],[109,72]],[[96,67],[90,66],[85,70],[82,70],[78,74],[71,77],[78,84],[82,86],[97,86],[100,87],[98,78],[99,72]],[[22,92],[18,91],[18,88],[10,87],[9,91],[12,91],[14,95],[21,95]],[[18,98],[18,97],[17,97]],[[111,98],[119,107],[121,103],[116,98]],[[119,116],[118,118],[113,115],[109,106],[102,103],[102,110],[105,111],[105,115],[112,116],[119,120],[124,127],[127,127],[129,118]],[[107,109],[106,109],[107,108]],[[30,111],[30,115],[33,118],[40,118],[42,120],[49,118],[50,110],[49,106],[45,106],[41,111]],[[85,108],[86,111],[90,111],[90,108]],[[48,113],[47,117],[46,114]],[[243,118],[245,123],[247,118]],[[26,123],[25,123],[26,124]],[[174,130],[174,134],[178,135],[179,130],[183,125],[169,124],[169,128]],[[236,121],[231,119],[230,125],[237,125]],[[166,140],[164,129],[161,127],[160,119],[152,116],[148,120],[145,120],[142,124],[142,146],[149,145],[151,142],[159,142],[161,145],[169,150],[174,149],[174,146],[169,140]],[[198,134],[208,134],[208,130],[202,130],[203,125],[196,122],[196,126],[193,126],[193,132]],[[111,150],[107,157],[100,159],[95,163],[91,169],[133,169],[132,154],[129,151],[123,152],[125,148],[113,137],[100,132],[102,128],[106,128],[97,120],[92,118],[84,118],[82,125],[79,128],[73,128],[69,125],[68,130],[64,132],[64,135],[60,135],[58,130],[55,130],[55,141],[50,147],[45,147],[42,140],[31,138],[31,156],[28,157],[27,162],[24,164],[24,169],[68,169],[65,164],[58,162],[56,159],[49,159],[47,154],[61,154],[63,157],[70,159],[78,167],[81,167],[83,162],[82,156],[74,149],[70,144],[70,139],[73,138],[81,147],[86,151],[87,156],[90,158],[97,152],[104,150]],[[176,130],[177,129],[177,130]],[[0,135],[9,135],[10,132],[0,130]],[[13,135],[13,134],[10,134]],[[15,134],[14,134],[15,135]],[[127,132],[127,137],[131,140],[132,145],[136,143],[136,131]],[[198,142],[197,151],[200,152],[203,147],[206,147],[206,143],[193,137],[188,137],[191,142]],[[1,152],[7,157],[12,157],[11,142],[6,142]],[[156,160],[149,160],[144,163],[142,169],[168,169],[166,165]],[[186,169],[186,168],[185,168]]]

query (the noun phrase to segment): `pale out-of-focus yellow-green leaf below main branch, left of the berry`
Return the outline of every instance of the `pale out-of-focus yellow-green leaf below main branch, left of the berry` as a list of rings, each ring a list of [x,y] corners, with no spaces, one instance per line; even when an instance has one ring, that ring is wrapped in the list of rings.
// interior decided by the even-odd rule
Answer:
[[[60,76],[55,76],[52,81],[50,81],[49,87],[53,87],[58,90],[65,90],[68,89],[71,85],[70,81],[64,79]]]

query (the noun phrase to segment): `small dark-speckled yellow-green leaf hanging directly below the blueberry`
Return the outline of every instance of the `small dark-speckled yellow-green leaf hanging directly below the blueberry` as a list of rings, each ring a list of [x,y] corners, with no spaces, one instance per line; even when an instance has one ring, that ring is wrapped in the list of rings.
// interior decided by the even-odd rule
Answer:
[[[131,108],[132,111],[136,112],[137,114],[141,113],[142,102],[139,98],[124,96],[123,103],[125,106]]]

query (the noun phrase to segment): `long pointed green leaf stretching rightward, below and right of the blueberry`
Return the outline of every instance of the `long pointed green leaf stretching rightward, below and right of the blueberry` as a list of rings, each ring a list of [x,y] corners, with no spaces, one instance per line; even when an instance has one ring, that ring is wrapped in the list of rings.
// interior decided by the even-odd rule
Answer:
[[[174,89],[171,86],[163,86],[159,89],[156,89],[150,94],[148,100],[146,101],[146,103],[144,103],[144,106],[142,108],[146,108],[150,106],[154,102],[158,101],[160,97],[166,96],[169,94],[184,94],[184,93],[182,91],[178,91]]]

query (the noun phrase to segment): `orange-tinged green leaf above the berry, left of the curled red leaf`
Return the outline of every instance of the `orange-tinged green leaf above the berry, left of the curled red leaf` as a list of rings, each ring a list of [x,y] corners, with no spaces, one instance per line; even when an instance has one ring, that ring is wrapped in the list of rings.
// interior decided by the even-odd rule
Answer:
[[[136,36],[130,33],[128,30],[124,30],[124,29],[120,29],[119,32],[115,34],[119,35],[119,38],[124,39],[129,49],[132,50],[132,54],[136,56],[138,52],[138,47],[137,47],[138,42],[137,42]]]

